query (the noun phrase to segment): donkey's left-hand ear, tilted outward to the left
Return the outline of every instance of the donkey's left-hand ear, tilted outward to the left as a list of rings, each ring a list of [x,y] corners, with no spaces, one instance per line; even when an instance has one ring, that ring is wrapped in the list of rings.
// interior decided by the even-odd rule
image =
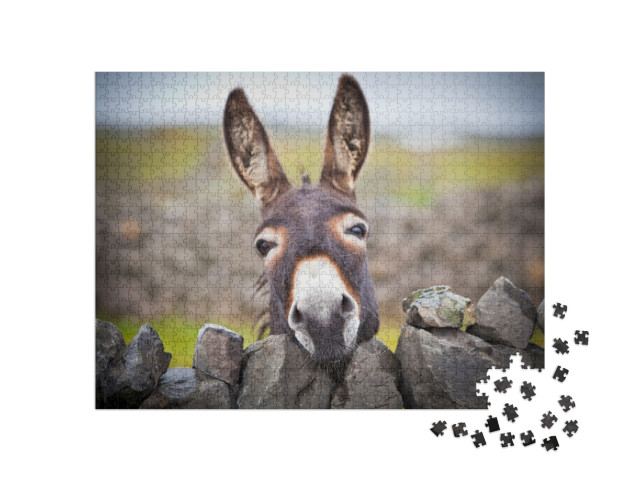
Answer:
[[[227,99],[223,131],[231,165],[262,207],[291,186],[264,127],[240,88]]]

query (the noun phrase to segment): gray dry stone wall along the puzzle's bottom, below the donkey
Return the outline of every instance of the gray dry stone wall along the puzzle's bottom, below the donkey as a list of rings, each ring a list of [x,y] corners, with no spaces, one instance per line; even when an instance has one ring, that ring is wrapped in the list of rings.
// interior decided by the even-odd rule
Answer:
[[[96,320],[98,408],[486,408],[476,382],[519,352],[544,367],[529,341],[544,330],[544,301],[504,277],[477,304],[448,286],[403,300],[406,324],[392,353],[377,338],[358,346],[348,364],[318,366],[288,335],[243,350],[239,334],[215,324],[198,332],[190,368],[168,369],[171,354],[148,324],[126,344],[111,323]]]

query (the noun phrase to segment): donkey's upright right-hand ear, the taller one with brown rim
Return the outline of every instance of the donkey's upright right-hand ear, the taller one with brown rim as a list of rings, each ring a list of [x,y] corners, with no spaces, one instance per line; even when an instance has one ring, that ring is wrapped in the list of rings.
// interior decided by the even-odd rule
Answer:
[[[320,182],[350,196],[369,149],[369,108],[360,85],[343,74],[333,101]]]

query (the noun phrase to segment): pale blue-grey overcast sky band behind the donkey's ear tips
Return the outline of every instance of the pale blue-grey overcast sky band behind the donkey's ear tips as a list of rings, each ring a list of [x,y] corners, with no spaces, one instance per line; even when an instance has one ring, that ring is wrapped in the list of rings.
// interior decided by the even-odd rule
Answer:
[[[98,126],[219,125],[229,91],[245,89],[272,131],[319,130],[339,73],[98,73]],[[467,135],[544,134],[544,73],[356,73],[374,134],[408,146]]]

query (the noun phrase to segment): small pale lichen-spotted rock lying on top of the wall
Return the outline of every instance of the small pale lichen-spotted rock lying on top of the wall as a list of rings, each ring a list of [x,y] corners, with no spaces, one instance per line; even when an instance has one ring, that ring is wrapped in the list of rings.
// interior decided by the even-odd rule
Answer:
[[[403,300],[403,307],[407,306],[407,324],[421,329],[462,327],[469,304],[471,299],[456,294],[449,286],[415,291]]]

